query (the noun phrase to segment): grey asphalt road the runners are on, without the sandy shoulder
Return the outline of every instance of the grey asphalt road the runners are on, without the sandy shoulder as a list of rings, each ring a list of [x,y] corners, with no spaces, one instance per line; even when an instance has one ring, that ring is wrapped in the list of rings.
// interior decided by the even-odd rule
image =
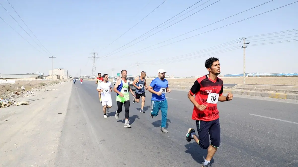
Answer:
[[[131,102],[132,128],[125,128],[125,111],[118,120],[114,117],[114,92],[108,119],[103,118],[96,86],[95,81],[86,80],[83,85],[72,84],[56,166],[197,167],[203,162],[207,151],[185,140],[188,128],[195,128],[187,92],[173,90],[166,94],[169,133],[162,133],[161,113],[150,118],[148,91],[145,113],[139,112],[141,103]],[[218,108],[221,146],[211,161],[213,166],[298,166],[298,104],[235,97],[219,102]]]

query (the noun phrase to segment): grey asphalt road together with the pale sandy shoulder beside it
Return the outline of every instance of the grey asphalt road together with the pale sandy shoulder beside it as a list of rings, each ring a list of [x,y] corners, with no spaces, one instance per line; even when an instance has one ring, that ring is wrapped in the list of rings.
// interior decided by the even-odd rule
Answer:
[[[145,113],[139,112],[140,103],[131,103],[128,129],[124,111],[114,117],[114,92],[108,119],[103,118],[96,86],[88,80],[66,82],[40,92],[30,105],[1,108],[8,121],[0,122],[0,166],[198,167],[203,162],[206,150],[185,140],[187,129],[195,128],[187,92],[166,94],[169,133],[162,133],[161,113],[150,118],[148,91]],[[218,108],[221,146],[213,167],[298,166],[297,103],[235,96]]]

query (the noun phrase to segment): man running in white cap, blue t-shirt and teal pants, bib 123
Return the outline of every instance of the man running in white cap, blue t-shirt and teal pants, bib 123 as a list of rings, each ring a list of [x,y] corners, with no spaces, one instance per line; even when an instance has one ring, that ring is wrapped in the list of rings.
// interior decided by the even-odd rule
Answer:
[[[149,85],[148,91],[152,93],[152,110],[150,113],[150,117],[153,118],[157,116],[159,110],[162,111],[162,125],[161,131],[164,133],[168,133],[166,130],[167,125],[167,99],[166,99],[166,92],[170,93],[171,89],[169,88],[169,83],[166,79],[164,79],[165,75],[164,69],[158,70],[158,77],[153,79]]]

